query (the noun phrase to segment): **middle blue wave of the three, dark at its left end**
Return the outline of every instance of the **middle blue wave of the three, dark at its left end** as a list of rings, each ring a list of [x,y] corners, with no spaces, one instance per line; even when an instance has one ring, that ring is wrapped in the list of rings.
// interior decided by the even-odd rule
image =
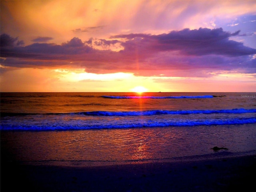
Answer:
[[[222,110],[147,110],[147,111],[91,111],[71,113],[1,113],[1,116],[26,116],[26,115],[85,115],[85,116],[152,116],[152,115],[186,115],[186,114],[242,114],[256,113],[256,109],[222,109]]]

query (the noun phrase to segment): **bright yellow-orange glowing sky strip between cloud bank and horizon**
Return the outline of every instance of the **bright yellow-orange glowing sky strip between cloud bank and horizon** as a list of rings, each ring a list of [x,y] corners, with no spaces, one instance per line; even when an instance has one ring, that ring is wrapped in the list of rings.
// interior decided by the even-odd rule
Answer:
[[[143,86],[138,86],[138,82]],[[236,86],[230,86],[230,82]],[[255,92],[251,74],[228,73],[207,79],[144,78],[130,73],[91,74],[77,69],[11,68],[1,73],[0,84],[1,92]]]

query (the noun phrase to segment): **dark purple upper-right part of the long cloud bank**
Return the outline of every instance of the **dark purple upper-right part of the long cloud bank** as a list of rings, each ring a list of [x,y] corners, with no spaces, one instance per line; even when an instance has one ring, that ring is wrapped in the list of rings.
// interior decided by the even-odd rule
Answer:
[[[131,47],[132,43],[137,44],[136,38],[140,38],[140,47],[146,45],[152,52],[178,50],[186,55],[227,55],[242,56],[256,54],[256,49],[244,46],[240,42],[229,40],[231,36],[237,36],[240,31],[235,33],[224,32],[222,28],[208,29],[199,28],[198,30],[184,29],[172,31],[168,34],[146,35],[128,34],[116,35],[111,38],[125,38],[124,47]],[[149,42],[151,42],[149,44]],[[128,46],[126,46],[126,44]]]

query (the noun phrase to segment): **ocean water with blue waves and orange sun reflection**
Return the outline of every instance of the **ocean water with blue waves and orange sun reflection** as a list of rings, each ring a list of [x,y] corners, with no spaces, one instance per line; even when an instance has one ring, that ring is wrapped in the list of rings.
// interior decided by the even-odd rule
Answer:
[[[256,152],[256,93],[1,93],[0,109],[1,160],[71,164]]]

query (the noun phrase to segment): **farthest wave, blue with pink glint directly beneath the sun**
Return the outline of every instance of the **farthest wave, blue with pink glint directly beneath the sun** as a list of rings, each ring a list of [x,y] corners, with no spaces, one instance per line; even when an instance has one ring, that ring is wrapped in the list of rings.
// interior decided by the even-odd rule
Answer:
[[[202,95],[202,96],[101,96],[104,98],[110,98],[110,99],[181,99],[181,98],[189,98],[189,99],[195,99],[195,98],[213,98],[212,95]]]

